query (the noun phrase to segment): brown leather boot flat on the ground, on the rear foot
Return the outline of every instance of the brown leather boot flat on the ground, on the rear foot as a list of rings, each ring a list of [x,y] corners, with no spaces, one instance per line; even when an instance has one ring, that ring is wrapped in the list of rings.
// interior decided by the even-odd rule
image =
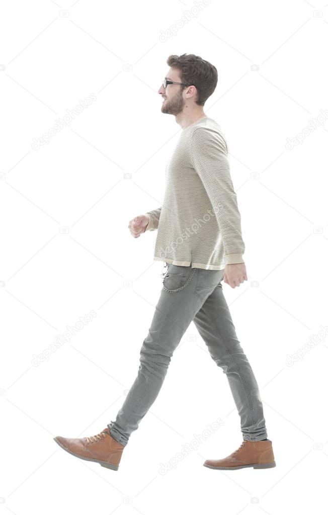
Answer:
[[[271,440],[258,440],[250,442],[244,440],[239,448],[226,458],[206,459],[204,467],[219,470],[269,469],[275,467]]]

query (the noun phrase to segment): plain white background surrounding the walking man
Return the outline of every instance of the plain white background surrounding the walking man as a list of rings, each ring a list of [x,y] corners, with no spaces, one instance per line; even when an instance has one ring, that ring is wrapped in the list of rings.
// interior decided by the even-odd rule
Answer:
[[[0,510],[322,512],[328,5],[12,1],[0,20]],[[163,199],[181,129],[161,113],[158,89],[167,57],[183,53],[219,73],[204,111],[229,145],[249,278],[223,291],[260,387],[273,469],[202,466],[242,435],[227,377],[193,323],[117,472],[53,440],[99,433],[137,374],[163,263],[153,261],[156,231],[134,239],[127,226]],[[70,341],[33,362],[91,310]]]

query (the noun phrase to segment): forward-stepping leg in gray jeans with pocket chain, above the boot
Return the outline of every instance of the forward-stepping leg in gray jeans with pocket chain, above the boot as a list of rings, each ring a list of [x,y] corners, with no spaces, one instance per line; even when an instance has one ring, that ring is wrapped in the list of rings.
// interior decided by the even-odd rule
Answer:
[[[111,436],[123,445],[157,398],[172,354],[203,303],[196,293],[198,272],[198,268],[168,264],[151,327],[140,351],[139,372],[116,420],[108,424]]]

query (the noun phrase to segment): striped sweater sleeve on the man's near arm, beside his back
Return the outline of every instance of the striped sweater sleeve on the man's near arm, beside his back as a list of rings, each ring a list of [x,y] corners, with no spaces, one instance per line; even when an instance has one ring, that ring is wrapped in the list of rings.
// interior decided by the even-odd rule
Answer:
[[[225,139],[209,128],[196,127],[190,155],[216,215],[226,264],[245,263],[245,244],[241,237],[240,214],[230,176]]]

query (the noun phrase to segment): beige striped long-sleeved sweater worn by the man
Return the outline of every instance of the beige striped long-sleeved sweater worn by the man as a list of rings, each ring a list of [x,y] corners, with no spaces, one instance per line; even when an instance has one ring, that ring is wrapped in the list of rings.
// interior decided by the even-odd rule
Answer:
[[[208,116],[181,131],[165,168],[162,206],[146,213],[145,231],[158,230],[154,260],[206,270],[244,263],[228,152],[220,126]]]

